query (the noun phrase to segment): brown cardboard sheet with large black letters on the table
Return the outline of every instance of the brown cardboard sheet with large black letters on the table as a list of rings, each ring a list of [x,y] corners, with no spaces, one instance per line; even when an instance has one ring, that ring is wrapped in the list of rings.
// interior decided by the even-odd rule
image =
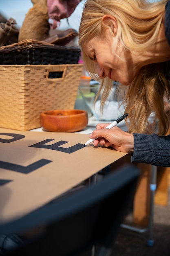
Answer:
[[[0,128],[0,222],[41,207],[127,153],[88,135]]]

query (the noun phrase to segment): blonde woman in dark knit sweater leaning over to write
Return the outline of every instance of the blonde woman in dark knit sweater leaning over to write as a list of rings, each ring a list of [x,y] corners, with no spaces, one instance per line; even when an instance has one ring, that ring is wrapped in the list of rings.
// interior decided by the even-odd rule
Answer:
[[[170,166],[170,1],[86,0],[79,26],[86,70],[122,84],[128,132],[98,124],[93,144],[132,153],[132,162]],[[122,94],[123,93],[123,94]]]

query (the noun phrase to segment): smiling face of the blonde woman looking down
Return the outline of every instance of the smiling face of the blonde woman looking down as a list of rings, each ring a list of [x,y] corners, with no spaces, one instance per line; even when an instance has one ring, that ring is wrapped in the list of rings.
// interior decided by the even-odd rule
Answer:
[[[100,79],[108,78],[129,85],[137,75],[130,51],[125,51],[117,37],[93,38],[83,45],[85,54],[96,64]]]

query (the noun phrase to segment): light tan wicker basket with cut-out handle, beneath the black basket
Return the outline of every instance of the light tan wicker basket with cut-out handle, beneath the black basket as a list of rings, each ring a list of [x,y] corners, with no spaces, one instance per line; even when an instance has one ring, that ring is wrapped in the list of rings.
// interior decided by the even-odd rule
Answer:
[[[40,112],[73,109],[82,64],[0,65],[0,127],[40,127]]]

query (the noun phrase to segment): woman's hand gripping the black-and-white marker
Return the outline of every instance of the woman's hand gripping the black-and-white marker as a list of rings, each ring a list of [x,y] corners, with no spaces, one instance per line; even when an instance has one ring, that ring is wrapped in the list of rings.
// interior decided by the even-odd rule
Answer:
[[[91,139],[99,137],[93,141],[93,145],[102,145],[104,147],[113,147],[115,150],[121,152],[133,152],[134,139],[133,135],[124,132],[117,126],[111,129],[105,129],[108,124],[97,124],[96,130],[92,132],[89,137]]]

